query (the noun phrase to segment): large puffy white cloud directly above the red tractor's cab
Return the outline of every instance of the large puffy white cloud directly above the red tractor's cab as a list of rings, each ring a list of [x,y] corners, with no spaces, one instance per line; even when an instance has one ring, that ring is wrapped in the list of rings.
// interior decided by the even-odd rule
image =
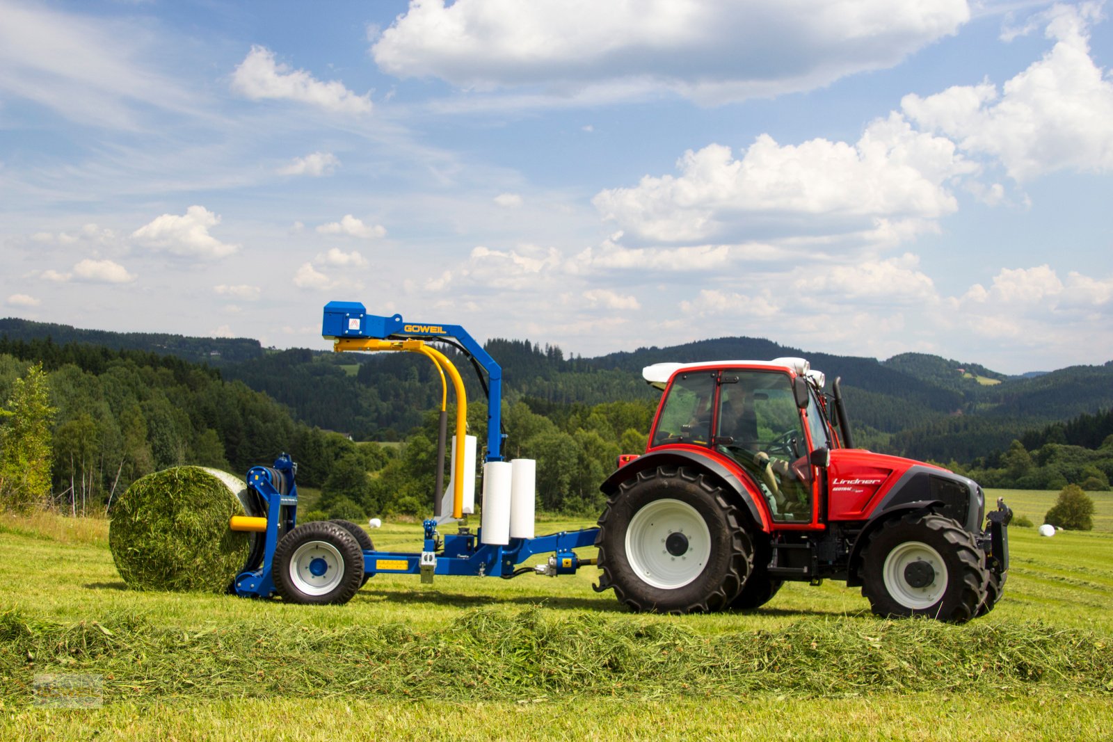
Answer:
[[[731,228],[791,236],[821,221],[843,231],[879,219],[930,220],[958,204],[948,181],[976,167],[944,137],[915,131],[898,113],[870,123],[854,145],[812,139],[778,145],[761,135],[736,159],[729,147],[689,150],[679,176],[646,176],[593,204],[623,230],[657,240],[701,240]]]

